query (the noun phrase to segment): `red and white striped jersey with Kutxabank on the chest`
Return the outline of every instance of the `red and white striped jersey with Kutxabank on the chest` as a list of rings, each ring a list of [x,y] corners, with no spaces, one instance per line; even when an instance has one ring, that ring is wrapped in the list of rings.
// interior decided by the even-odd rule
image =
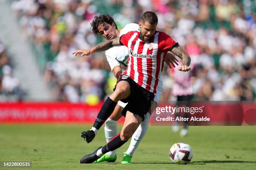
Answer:
[[[139,38],[140,32],[131,31],[120,37],[120,44],[128,47],[128,66],[123,72],[138,85],[156,93],[164,66],[164,54],[177,44],[169,35],[156,31],[149,41]]]

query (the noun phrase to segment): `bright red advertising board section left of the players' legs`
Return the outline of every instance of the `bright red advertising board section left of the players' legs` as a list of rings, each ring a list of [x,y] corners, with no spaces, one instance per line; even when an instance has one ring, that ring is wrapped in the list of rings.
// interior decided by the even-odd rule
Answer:
[[[0,103],[0,122],[94,122],[101,104]],[[120,120],[124,121],[124,118]]]

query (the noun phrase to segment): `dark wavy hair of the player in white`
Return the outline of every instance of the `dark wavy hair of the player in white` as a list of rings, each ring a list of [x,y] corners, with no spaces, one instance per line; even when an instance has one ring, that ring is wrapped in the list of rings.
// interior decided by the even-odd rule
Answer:
[[[112,23],[115,24],[115,21],[112,17],[109,15],[100,15],[96,16],[92,22],[91,22],[91,30],[94,33],[94,35],[99,36],[100,32],[98,30],[99,25],[105,25],[105,23],[108,23],[109,25],[112,25]],[[117,26],[115,24],[115,28],[117,29]]]

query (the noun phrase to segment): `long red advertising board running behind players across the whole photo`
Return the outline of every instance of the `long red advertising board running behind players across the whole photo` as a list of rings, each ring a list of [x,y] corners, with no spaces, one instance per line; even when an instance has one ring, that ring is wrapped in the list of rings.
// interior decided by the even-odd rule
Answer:
[[[94,122],[102,106],[65,102],[0,103],[0,122]],[[180,110],[178,116],[175,110]],[[182,113],[187,113],[187,117]],[[178,120],[176,120],[178,118]],[[175,102],[160,102],[151,115],[151,125],[256,125],[255,102],[193,101],[179,107]],[[119,122],[124,122],[122,117]]]

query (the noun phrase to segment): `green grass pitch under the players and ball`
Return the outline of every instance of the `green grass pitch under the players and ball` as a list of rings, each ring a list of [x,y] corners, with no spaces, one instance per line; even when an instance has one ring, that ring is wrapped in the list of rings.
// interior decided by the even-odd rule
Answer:
[[[189,127],[189,135],[180,138],[171,126],[150,126],[133,155],[131,165],[122,165],[123,152],[130,140],[117,150],[115,163],[80,164],[80,158],[105,145],[101,128],[92,143],[80,138],[89,125],[0,125],[0,162],[32,161],[31,170],[255,170],[255,126]],[[118,127],[119,130],[121,126]],[[193,158],[188,165],[175,165],[169,158],[170,147],[188,143]]]

